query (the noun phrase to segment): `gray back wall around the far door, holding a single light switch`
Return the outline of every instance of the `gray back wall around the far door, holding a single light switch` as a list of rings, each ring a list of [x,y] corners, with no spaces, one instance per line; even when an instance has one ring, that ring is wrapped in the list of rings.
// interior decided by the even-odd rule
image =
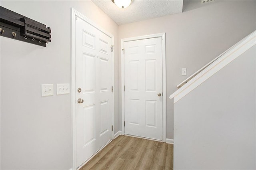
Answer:
[[[201,4],[190,0],[184,1],[180,14],[119,26],[119,43],[122,38],[166,32],[166,138],[173,139],[173,101],[169,96],[177,90],[176,85],[256,30],[255,9],[256,1]],[[181,68],[187,68],[187,76],[181,75]]]

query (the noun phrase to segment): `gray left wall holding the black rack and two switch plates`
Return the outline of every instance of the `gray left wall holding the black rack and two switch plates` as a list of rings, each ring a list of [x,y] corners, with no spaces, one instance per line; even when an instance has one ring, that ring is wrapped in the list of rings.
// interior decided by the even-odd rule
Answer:
[[[57,83],[71,83],[70,8],[114,35],[118,26],[91,1],[2,1],[1,6],[52,29],[47,47],[1,37],[1,169],[71,168],[71,94],[56,95]],[[115,53],[115,131],[119,130],[118,50]],[[53,83],[54,96],[41,97]]]

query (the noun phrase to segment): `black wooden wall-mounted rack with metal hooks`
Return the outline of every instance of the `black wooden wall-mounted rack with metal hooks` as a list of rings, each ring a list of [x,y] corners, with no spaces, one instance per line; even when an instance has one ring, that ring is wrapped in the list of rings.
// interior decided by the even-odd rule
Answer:
[[[0,36],[46,47],[51,42],[51,29],[0,6]]]

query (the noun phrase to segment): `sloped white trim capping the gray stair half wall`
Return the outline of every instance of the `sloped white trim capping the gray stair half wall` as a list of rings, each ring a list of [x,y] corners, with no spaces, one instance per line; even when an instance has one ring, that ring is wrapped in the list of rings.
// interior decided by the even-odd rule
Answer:
[[[236,43],[236,45],[230,48],[230,50],[228,50],[224,55],[206,67],[203,71],[198,73],[198,75],[193,77],[184,86],[180,87],[180,89],[170,95],[170,99],[174,98],[174,103],[176,103],[182,99],[182,97],[190,93],[190,91],[198,87],[200,84],[202,84],[204,81],[206,81],[208,78],[217,73],[220,69],[228,65],[228,63],[239,57],[242,53],[244,53],[255,44],[256,31],[254,31],[240,42]]]

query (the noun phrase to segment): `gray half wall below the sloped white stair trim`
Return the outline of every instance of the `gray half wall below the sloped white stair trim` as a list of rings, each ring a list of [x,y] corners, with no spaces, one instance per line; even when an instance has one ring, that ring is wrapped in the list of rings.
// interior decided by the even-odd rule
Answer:
[[[174,169],[256,169],[256,45],[174,104]]]

